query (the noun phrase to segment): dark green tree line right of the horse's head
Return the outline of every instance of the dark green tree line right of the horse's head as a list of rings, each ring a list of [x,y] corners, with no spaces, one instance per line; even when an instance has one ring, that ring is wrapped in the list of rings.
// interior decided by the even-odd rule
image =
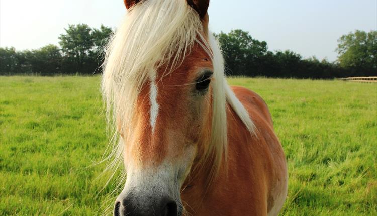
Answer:
[[[271,52],[265,41],[253,39],[242,30],[222,32],[217,37],[230,75],[312,79],[377,76],[377,31],[356,30],[343,35],[338,40],[339,58],[335,62],[304,59],[290,50]]]

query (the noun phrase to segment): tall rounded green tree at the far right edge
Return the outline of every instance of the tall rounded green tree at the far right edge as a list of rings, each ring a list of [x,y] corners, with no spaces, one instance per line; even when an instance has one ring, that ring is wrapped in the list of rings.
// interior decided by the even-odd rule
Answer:
[[[340,66],[359,75],[377,75],[377,31],[356,30],[338,40]]]

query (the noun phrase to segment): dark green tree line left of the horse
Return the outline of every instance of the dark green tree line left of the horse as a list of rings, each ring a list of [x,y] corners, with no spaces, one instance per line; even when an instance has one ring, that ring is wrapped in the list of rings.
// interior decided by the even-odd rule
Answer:
[[[80,74],[101,72],[104,49],[112,29],[101,26],[90,28],[86,24],[69,25],[59,36],[59,45],[46,45],[40,49],[18,51],[0,48],[0,74]]]

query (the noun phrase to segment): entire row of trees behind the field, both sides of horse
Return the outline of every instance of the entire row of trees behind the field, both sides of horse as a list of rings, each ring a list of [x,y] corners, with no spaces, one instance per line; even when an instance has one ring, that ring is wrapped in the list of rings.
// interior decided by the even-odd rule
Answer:
[[[99,29],[86,24],[69,25],[59,36],[60,47],[50,44],[24,51],[0,48],[0,75],[101,73],[111,34],[112,29],[103,25]],[[377,76],[377,31],[356,30],[340,37],[335,62],[304,59],[290,50],[272,52],[265,41],[242,30],[215,36],[224,52],[227,75],[312,79]]]

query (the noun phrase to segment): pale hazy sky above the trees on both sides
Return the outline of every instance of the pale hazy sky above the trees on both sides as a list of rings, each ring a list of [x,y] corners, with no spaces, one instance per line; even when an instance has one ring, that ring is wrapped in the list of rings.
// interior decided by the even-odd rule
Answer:
[[[116,27],[125,13],[122,0],[0,0],[0,47],[58,45],[68,24]],[[339,37],[377,30],[377,0],[211,0],[209,16],[213,32],[242,29],[271,51],[335,61]]]

